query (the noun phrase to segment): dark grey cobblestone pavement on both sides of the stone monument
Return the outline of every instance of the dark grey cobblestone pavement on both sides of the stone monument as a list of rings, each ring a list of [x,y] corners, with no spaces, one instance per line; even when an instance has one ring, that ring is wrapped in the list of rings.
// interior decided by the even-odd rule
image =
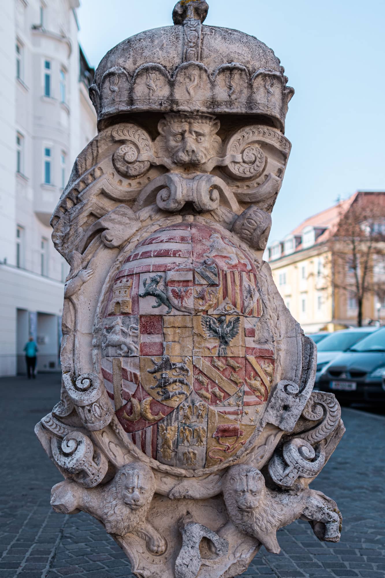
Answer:
[[[61,476],[33,428],[58,401],[59,386],[56,374],[0,379],[0,578],[131,578],[127,558],[97,521],[50,508]],[[309,524],[294,523],[278,534],[280,555],[262,548],[245,576],[385,577],[385,417],[343,409],[343,420],[345,437],[313,484],[338,503],[340,543],[319,542]]]

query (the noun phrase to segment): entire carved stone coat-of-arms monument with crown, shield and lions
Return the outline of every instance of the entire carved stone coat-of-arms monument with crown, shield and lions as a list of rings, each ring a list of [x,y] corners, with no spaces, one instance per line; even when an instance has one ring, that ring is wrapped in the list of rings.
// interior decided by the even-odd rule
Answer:
[[[208,9],[182,0],[102,59],[98,135],[51,218],[71,266],[60,401],[35,428],[51,505],[97,518],[140,578],[231,578],[298,518],[327,542],[342,524],[309,488],[340,408],[262,260],[294,91]]]

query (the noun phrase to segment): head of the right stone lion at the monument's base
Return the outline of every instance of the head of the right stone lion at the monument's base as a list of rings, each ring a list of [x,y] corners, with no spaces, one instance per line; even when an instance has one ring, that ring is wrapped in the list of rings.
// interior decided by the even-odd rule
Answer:
[[[243,512],[252,512],[265,495],[265,479],[256,468],[246,465],[233,466],[226,477],[225,500],[232,498]]]

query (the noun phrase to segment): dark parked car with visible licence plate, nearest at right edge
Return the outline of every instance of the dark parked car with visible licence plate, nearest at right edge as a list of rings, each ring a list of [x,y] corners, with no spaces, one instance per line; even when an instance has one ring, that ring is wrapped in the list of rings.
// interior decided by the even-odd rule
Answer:
[[[385,402],[385,327],[341,353],[321,370],[318,387],[340,401]]]

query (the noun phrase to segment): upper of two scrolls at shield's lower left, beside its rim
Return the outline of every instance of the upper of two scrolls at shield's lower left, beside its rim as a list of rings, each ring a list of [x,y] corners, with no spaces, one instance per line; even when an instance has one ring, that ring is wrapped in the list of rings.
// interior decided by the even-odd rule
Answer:
[[[90,431],[105,428],[113,417],[113,409],[95,373],[84,373],[73,383],[71,374],[63,376],[65,388],[76,406],[83,424]]]

